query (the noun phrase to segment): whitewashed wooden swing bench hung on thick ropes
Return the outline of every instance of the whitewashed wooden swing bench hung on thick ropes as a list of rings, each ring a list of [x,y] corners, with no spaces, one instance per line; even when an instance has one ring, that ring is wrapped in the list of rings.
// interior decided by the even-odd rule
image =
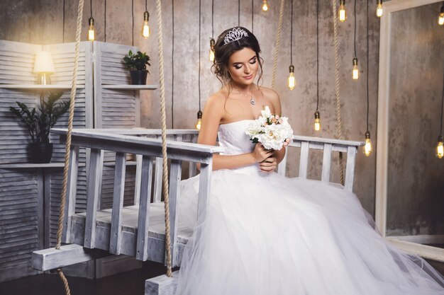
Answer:
[[[206,207],[207,197],[211,191],[213,154],[220,153],[223,149],[218,146],[196,144],[196,131],[166,129],[160,0],[156,1],[156,7],[159,32],[157,37],[159,42],[162,129],[72,130],[83,3],[83,0],[79,1],[68,128],[52,130],[53,133],[58,134],[60,139],[66,142],[57,245],[55,248],[35,251],[33,253],[32,266],[42,271],[57,269],[65,284],[66,293],[70,294],[67,280],[60,267],[94,260],[101,256],[109,255],[109,253],[113,255],[130,255],[138,260],[165,262],[167,265],[167,274],[148,279],[145,282],[145,294],[174,294],[177,285],[177,275],[172,273],[172,267],[180,266],[182,251],[188,239],[192,236],[191,231],[180,227],[177,216],[179,211],[179,183],[182,177],[182,163],[190,163],[190,176],[196,173],[196,163],[201,165],[198,214],[202,214]],[[277,69],[280,33],[282,31],[284,0],[281,0],[280,4],[277,48],[273,66],[273,88]],[[335,11],[335,0],[333,0],[333,11]],[[336,29],[337,25],[335,23],[335,40],[337,35]],[[347,153],[345,178],[343,178],[341,166],[341,183],[343,183],[345,190],[352,191],[355,155],[358,147],[364,143],[361,141],[345,141],[341,138],[337,42],[335,42],[335,53],[339,139],[295,136],[289,147],[300,149],[299,178],[307,178],[310,150],[323,151],[321,173],[321,181],[323,182],[330,182],[332,153],[337,151],[340,152],[340,155],[343,152]],[[161,141],[158,139],[160,137],[162,138]],[[167,137],[172,140],[167,141]],[[79,168],[80,148],[91,149],[91,152],[89,175],[87,178],[87,211],[76,213],[77,170]],[[97,204],[101,197],[101,178],[105,151],[116,153],[113,204],[112,209],[99,210]],[[123,207],[126,162],[130,154],[136,158],[136,192],[134,204]],[[171,160],[170,180],[168,180],[168,158]],[[342,165],[342,161],[340,161],[340,164]],[[286,165],[287,156],[279,164],[279,174],[285,174]],[[154,183],[152,179],[154,179]],[[164,202],[161,202],[162,192],[160,188],[162,183]],[[153,196],[153,202],[151,202],[151,196]],[[164,219],[165,224],[162,222]],[[61,245],[62,241],[68,245]]]

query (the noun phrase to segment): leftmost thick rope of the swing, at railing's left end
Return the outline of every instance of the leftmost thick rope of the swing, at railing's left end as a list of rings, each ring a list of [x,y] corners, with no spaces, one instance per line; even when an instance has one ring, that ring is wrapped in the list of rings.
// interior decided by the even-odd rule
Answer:
[[[82,33],[83,4],[84,0],[79,0],[76,44],[75,44],[75,53],[74,53],[74,69],[72,71],[72,84],[71,84],[71,95],[70,95],[70,116],[68,117],[68,132],[65,144],[65,168],[63,168],[62,195],[60,196],[59,221],[57,225],[57,242],[55,245],[55,248],[57,250],[60,250],[60,245],[62,245],[63,219],[65,218],[68,170],[70,168],[72,122],[74,120],[74,103],[75,103],[75,93],[77,90],[77,66],[79,64],[80,33]],[[63,274],[60,268],[57,269],[57,274],[59,274],[59,277],[60,279],[62,279],[63,285],[65,286],[65,293],[67,295],[70,295],[71,294],[70,286],[68,285],[68,281],[65,277],[65,274]]]

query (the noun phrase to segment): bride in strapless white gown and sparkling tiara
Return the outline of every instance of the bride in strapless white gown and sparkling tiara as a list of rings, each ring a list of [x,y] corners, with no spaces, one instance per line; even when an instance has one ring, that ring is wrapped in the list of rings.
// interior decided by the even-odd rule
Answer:
[[[179,220],[194,229],[182,257],[179,295],[444,294],[444,278],[374,231],[357,197],[338,185],[284,178],[285,149],[252,144],[245,129],[279,96],[258,86],[260,45],[241,27],[216,42],[223,87],[206,102],[199,144],[219,144],[211,195],[196,220],[199,177],[182,182]]]

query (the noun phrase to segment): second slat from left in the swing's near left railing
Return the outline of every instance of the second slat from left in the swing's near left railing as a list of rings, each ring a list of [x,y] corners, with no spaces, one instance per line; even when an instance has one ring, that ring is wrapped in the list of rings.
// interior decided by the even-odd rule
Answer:
[[[96,211],[99,203],[104,152],[91,149],[87,183],[87,220],[85,221],[84,247],[94,248],[96,239]]]

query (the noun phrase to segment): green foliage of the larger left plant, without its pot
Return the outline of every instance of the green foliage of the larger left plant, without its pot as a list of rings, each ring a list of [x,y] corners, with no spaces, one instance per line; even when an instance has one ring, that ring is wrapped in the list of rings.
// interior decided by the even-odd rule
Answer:
[[[26,125],[33,143],[48,144],[50,142],[50,129],[55,125],[59,117],[70,108],[69,101],[57,103],[60,97],[62,97],[62,92],[52,93],[48,91],[48,93],[45,93],[43,91],[40,94],[40,105],[38,105],[37,110],[35,108],[29,110],[27,105],[18,101],[16,101],[18,109],[9,108]]]

